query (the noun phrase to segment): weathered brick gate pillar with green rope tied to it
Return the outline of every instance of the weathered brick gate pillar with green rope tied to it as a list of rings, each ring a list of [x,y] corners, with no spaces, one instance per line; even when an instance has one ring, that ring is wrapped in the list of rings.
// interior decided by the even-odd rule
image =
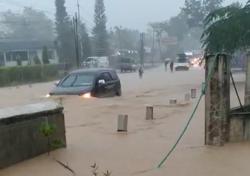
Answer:
[[[206,78],[211,69],[214,71],[205,98],[205,144],[222,146],[229,136],[230,58],[218,55],[212,68],[214,58],[206,58]]]

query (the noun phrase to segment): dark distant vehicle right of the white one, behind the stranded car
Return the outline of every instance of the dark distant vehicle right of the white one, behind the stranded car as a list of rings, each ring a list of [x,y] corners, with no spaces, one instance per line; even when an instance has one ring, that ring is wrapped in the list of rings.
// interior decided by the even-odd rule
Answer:
[[[119,67],[121,72],[136,72],[137,70],[135,60],[129,57],[121,57]]]

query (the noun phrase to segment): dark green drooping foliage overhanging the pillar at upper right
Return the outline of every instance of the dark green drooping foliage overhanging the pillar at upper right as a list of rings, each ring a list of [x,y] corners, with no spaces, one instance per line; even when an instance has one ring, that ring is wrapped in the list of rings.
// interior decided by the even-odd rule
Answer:
[[[250,5],[233,4],[210,13],[201,37],[207,52],[229,52],[250,45]]]

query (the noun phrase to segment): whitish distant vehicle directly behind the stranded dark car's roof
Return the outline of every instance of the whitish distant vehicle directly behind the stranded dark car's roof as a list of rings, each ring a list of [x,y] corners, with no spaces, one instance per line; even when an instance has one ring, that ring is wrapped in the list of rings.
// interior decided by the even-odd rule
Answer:
[[[84,68],[108,68],[109,59],[107,56],[102,57],[88,57],[82,62]]]

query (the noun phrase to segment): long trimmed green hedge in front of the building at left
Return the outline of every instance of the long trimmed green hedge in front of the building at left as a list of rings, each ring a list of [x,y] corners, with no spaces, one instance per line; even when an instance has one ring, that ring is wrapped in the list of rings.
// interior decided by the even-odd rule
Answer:
[[[57,65],[0,68],[0,87],[52,81],[57,78],[59,78],[59,69]]]

